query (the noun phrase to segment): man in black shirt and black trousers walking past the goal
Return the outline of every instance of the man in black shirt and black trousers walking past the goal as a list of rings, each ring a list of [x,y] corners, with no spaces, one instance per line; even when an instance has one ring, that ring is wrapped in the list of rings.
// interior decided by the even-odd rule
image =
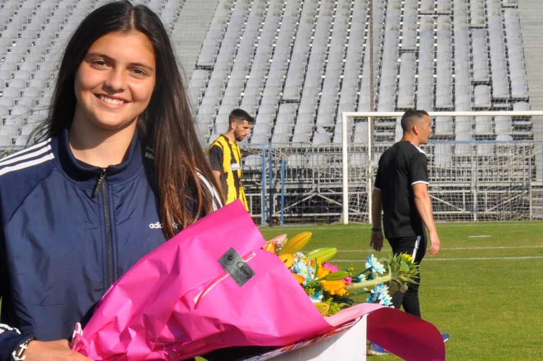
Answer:
[[[426,154],[419,148],[428,142],[432,121],[423,110],[408,110],[402,117],[403,137],[387,149],[379,160],[379,168],[372,193],[370,246],[380,251],[383,246],[381,211],[384,235],[393,253],[406,253],[420,263],[426,252],[426,230],[430,235],[430,255],[440,248],[439,236],[432,216],[428,196]],[[420,283],[420,276],[415,281]],[[395,308],[420,317],[419,285],[409,284],[406,293],[392,295]]]

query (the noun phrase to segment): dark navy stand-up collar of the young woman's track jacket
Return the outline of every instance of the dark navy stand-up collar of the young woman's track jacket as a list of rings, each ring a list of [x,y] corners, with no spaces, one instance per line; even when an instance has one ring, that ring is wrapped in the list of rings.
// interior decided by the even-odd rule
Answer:
[[[55,158],[68,177],[89,185],[96,183],[100,168],[75,159],[68,143],[68,128],[62,130],[59,135],[54,136],[51,143]],[[144,145],[138,138],[136,130],[124,161],[107,168],[106,180],[110,183],[116,183],[134,176],[143,167],[144,154]]]

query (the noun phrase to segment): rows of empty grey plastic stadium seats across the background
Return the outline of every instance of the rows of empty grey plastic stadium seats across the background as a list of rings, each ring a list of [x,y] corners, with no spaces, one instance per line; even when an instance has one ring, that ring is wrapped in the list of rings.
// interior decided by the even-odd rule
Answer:
[[[21,143],[18,137],[37,123],[31,116],[50,102],[68,37],[102,3],[6,0],[0,7],[3,143]],[[172,30],[183,3],[147,5]],[[224,129],[235,107],[267,124],[255,126],[251,144],[338,143],[342,111],[529,109],[515,0],[372,4],[373,102],[368,0],[219,0],[188,81],[205,142]],[[454,139],[465,126],[436,119],[435,134]],[[396,124],[376,132],[383,142],[399,134]],[[530,120],[521,118],[476,117],[468,133],[477,140],[532,137]],[[364,138],[351,126],[348,137]]]

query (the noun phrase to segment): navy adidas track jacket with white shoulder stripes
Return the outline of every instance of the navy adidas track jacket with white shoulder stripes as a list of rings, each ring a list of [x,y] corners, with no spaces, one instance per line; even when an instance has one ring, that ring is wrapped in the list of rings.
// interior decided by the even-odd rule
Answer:
[[[123,163],[106,169],[76,160],[67,130],[0,160],[0,361],[31,335],[70,338],[165,242],[152,167],[137,133]]]

